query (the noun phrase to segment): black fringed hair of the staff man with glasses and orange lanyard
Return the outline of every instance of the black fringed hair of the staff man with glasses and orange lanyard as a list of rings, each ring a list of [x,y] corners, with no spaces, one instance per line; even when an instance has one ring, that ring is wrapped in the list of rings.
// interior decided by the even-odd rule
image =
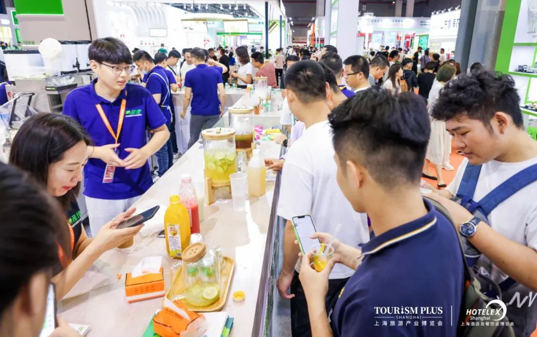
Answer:
[[[88,49],[90,60],[98,63],[132,64],[133,56],[125,43],[116,38],[103,38],[93,40]]]

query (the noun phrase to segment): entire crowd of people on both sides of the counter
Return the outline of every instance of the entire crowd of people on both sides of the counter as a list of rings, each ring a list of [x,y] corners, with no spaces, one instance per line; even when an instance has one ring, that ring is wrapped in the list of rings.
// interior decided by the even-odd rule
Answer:
[[[528,337],[537,323],[537,143],[524,130],[513,79],[477,63],[460,73],[453,59],[431,59],[428,50],[420,61],[418,52],[408,58],[388,47],[345,59],[333,46],[288,48],[285,55],[279,48],[266,62],[262,48],[152,56],[114,38],[91,43],[97,79],[67,96],[63,114],[28,118],[9,165],[0,164],[0,335],[37,336],[48,284],[62,298],[101,254],[141,229],[115,227],[153,184],[150,156],[157,156],[159,175],[173,162],[170,92],[185,88],[180,118],[190,106],[190,147],[224,113],[224,83],[247,86],[257,69],[269,85],[286,89],[281,124],[290,136],[278,141],[287,151],[266,164],[282,170],[277,288],[291,301],[293,336],[454,336],[466,316],[469,281],[458,231],[477,251],[477,273],[509,282],[500,287],[507,317],[517,336]],[[141,85],[129,83],[136,69]],[[441,170],[454,169],[452,137],[466,158],[447,185]],[[92,237],[76,203],[83,174]],[[318,230],[313,238],[335,249],[321,272],[295,243],[292,218],[304,214]],[[374,309],[401,306],[443,314],[427,324],[387,326]],[[450,310],[456,324],[449,324]],[[60,320],[54,335],[72,332]]]

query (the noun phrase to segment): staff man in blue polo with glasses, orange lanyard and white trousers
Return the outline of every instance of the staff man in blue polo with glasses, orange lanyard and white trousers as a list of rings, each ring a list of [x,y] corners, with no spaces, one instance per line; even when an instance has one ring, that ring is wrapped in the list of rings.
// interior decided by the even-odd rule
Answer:
[[[170,133],[147,89],[127,84],[133,66],[124,43],[97,39],[91,43],[89,58],[97,79],[69,93],[63,114],[75,118],[93,140],[84,167],[84,194],[95,235],[153,184],[148,159]],[[149,142],[148,127],[154,132]]]

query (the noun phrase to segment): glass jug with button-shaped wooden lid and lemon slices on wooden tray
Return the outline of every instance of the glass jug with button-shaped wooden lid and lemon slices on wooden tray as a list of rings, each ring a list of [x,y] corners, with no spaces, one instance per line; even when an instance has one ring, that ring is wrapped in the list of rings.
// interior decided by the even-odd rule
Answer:
[[[185,301],[194,306],[208,306],[220,297],[220,263],[214,251],[197,242],[183,252]]]

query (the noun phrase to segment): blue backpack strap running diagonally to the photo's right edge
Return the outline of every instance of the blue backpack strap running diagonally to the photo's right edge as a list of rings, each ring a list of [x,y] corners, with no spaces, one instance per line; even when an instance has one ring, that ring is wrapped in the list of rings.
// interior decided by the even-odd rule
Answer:
[[[535,181],[537,181],[537,164],[526,167],[517,174],[514,174],[479,200],[479,205],[483,214],[488,216],[489,213],[492,212],[492,209],[496,208],[505,199],[511,197],[514,193],[517,193],[525,186]]]

